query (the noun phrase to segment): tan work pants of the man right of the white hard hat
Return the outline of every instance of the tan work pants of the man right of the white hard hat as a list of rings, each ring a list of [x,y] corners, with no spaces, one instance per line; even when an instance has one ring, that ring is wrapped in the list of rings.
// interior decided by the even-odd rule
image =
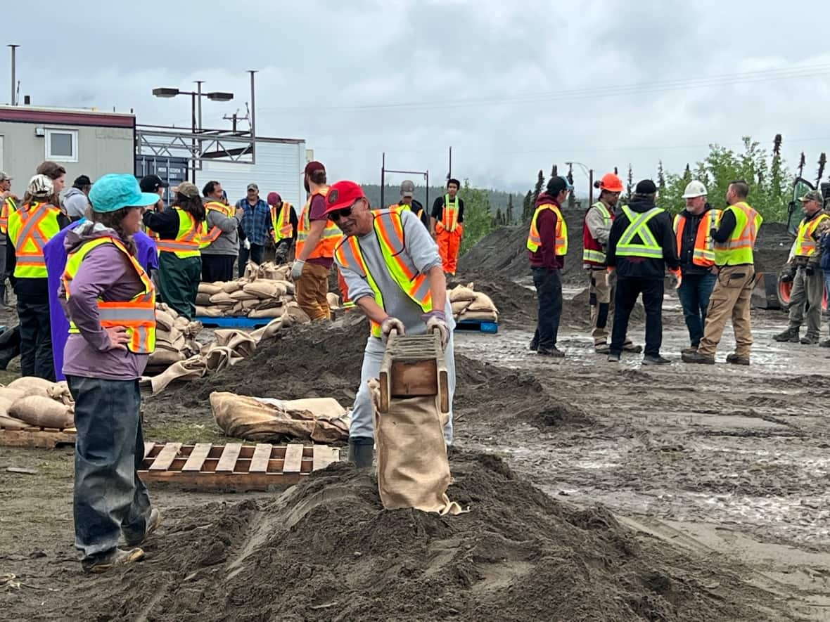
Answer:
[[[752,347],[752,323],[749,318],[749,303],[755,282],[752,265],[727,265],[718,272],[715,289],[706,310],[706,326],[697,351],[707,357],[714,357],[720,338],[726,328],[726,321],[732,318],[735,330],[735,354],[749,358]]]

